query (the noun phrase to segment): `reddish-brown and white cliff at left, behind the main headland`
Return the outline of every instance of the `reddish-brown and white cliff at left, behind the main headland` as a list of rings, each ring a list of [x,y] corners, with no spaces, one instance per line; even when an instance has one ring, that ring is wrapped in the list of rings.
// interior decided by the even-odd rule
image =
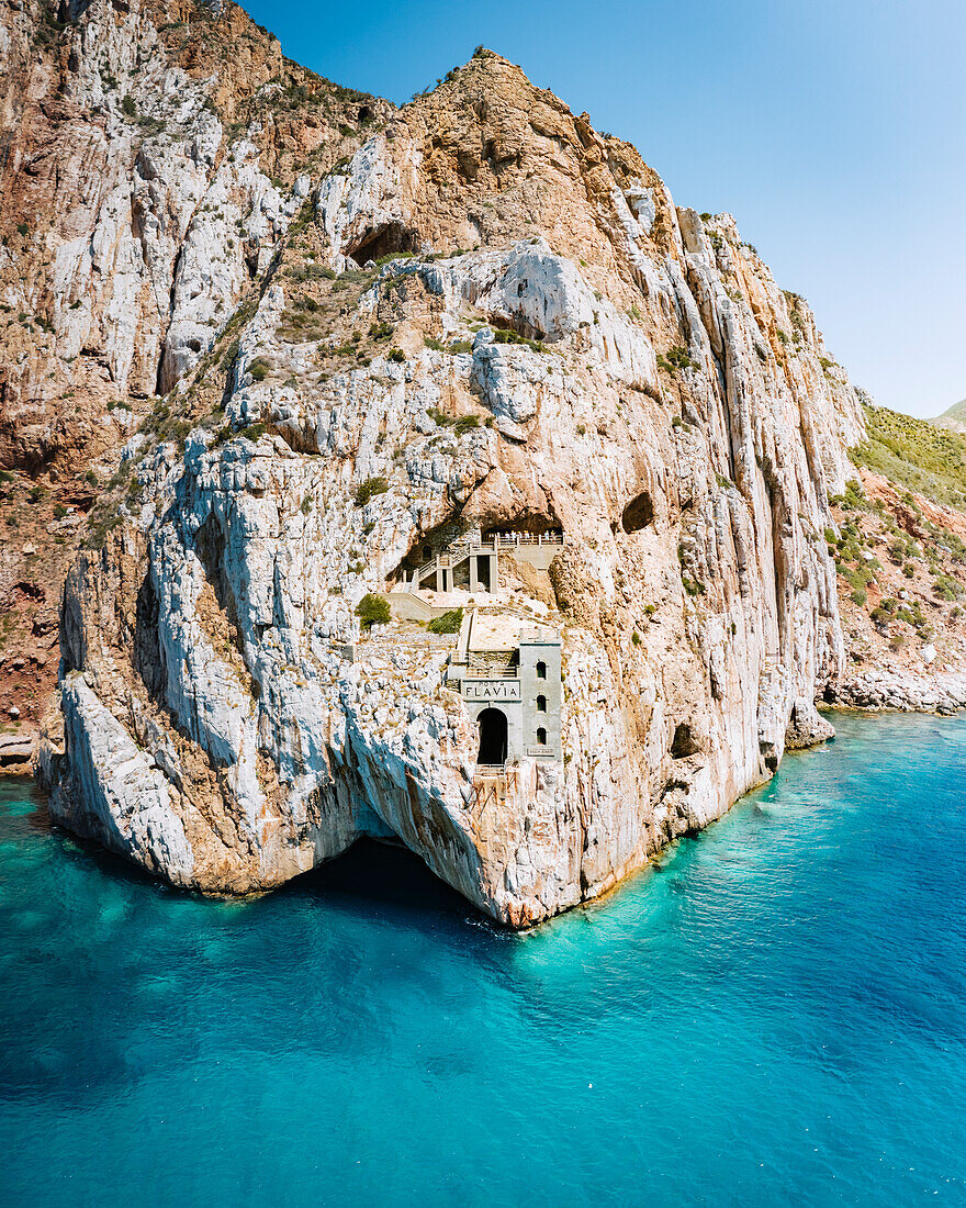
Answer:
[[[51,612],[139,412],[211,344],[312,174],[390,110],[234,6],[0,8],[5,715],[42,713]]]

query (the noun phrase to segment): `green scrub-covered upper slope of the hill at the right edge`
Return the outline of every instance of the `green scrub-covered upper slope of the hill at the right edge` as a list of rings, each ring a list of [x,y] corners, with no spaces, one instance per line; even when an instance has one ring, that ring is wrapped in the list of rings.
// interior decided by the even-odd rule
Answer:
[[[966,510],[966,436],[888,407],[866,407],[866,425],[868,440],[850,454],[856,465]]]

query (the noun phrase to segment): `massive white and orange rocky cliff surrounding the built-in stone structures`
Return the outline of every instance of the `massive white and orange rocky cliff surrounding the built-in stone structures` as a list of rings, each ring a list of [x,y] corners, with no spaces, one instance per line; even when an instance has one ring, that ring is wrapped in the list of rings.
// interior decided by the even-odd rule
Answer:
[[[862,408],[728,215],[487,51],[396,111],[229,6],[69,16],[7,99],[2,278],[43,329],[7,457],[127,437],[64,593],[60,819],[208,892],[395,838],[526,925],[827,733]],[[495,786],[447,639],[354,611],[471,527],[566,538],[490,602],[563,632],[564,759]]]

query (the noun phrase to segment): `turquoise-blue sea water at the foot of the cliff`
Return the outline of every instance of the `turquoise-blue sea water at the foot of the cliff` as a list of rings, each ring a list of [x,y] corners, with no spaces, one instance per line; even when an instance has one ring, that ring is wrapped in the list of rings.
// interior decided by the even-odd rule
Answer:
[[[836,724],[525,936],[374,846],[186,898],[0,788],[0,1202],[966,1203],[966,720]]]

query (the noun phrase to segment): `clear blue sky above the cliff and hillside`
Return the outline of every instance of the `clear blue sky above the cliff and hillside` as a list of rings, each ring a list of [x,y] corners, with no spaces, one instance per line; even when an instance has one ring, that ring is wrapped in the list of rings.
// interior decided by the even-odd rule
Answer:
[[[731,210],[879,402],[966,396],[964,0],[250,0],[290,58],[401,103],[484,45]]]

